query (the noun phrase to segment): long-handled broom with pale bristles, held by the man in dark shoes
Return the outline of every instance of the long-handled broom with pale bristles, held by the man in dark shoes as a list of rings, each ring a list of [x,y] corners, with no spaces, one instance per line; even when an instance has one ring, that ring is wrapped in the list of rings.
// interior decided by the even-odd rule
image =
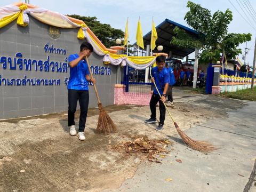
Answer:
[[[151,75],[150,75],[151,78],[153,78]],[[154,82],[154,85],[156,87],[156,90],[161,98],[161,94],[159,93],[158,89],[157,89],[157,86],[156,86],[156,83]],[[164,102],[163,102],[164,103]],[[213,150],[216,150],[217,148],[215,146],[213,146],[210,142],[207,142],[207,141],[196,141],[196,140],[193,140],[191,138],[188,137],[188,135],[186,135],[184,132],[181,131],[179,125],[174,121],[169,109],[166,107],[165,103],[164,103],[164,107],[166,108],[166,110],[168,111],[173,123],[174,123],[174,126],[176,128],[176,130],[178,131],[181,139],[183,140],[183,142],[189,146],[190,148],[192,149],[195,149],[195,150],[198,150],[198,151],[201,151],[201,152],[211,152]]]

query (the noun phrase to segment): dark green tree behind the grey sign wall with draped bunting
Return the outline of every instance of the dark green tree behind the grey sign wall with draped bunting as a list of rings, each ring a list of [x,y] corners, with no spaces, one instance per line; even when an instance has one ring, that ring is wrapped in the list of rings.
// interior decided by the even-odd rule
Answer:
[[[116,39],[124,37],[124,32],[121,29],[115,29],[109,24],[100,23],[96,17],[84,17],[76,14],[68,16],[84,21],[106,47],[115,46]]]

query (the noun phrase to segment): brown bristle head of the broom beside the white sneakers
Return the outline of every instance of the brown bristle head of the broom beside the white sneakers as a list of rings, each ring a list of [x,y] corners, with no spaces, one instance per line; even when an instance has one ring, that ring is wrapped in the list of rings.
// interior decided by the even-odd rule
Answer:
[[[98,103],[99,106],[99,119],[97,123],[96,131],[97,133],[103,133],[103,134],[109,134],[109,133],[115,133],[116,125],[112,121],[112,119],[109,117],[109,115],[106,113],[106,111],[102,107],[102,103]]]

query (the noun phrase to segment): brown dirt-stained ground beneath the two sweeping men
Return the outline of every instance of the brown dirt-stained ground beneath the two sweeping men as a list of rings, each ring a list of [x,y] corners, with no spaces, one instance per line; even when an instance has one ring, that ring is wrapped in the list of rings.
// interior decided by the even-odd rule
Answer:
[[[244,105],[237,100],[191,93],[177,93],[174,102],[169,109],[182,130],[207,119],[225,118],[227,111]],[[145,153],[127,153],[111,146],[139,137],[180,142],[167,113],[164,130],[156,131],[155,124],[144,123],[150,116],[148,106],[108,106],[105,110],[118,132],[95,133],[98,109],[89,109],[85,141],[69,135],[67,112],[0,120],[0,191],[82,192],[117,188],[147,158]],[[78,118],[79,111],[76,125]]]

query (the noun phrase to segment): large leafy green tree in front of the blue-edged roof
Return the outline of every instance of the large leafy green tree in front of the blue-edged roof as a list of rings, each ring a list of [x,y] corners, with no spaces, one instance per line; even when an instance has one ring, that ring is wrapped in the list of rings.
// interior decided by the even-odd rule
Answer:
[[[189,36],[185,30],[174,28],[175,37],[171,44],[180,47],[189,47],[201,50],[199,62],[216,62],[220,60],[222,50],[225,50],[227,59],[235,59],[242,50],[239,44],[251,41],[251,34],[228,33],[228,25],[233,20],[232,12],[217,11],[213,15],[210,10],[199,4],[188,1],[190,9],[185,15],[187,24],[198,32],[198,39]]]

